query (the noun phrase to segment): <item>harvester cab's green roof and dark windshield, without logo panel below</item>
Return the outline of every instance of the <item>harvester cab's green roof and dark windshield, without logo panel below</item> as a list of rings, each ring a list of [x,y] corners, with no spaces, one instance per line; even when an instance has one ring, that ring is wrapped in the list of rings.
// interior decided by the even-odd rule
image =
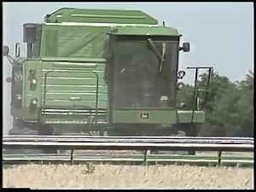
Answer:
[[[177,55],[188,52],[189,43],[179,47],[180,35],[171,27],[116,27],[109,34],[111,108],[175,108],[177,75],[185,75],[177,73]]]

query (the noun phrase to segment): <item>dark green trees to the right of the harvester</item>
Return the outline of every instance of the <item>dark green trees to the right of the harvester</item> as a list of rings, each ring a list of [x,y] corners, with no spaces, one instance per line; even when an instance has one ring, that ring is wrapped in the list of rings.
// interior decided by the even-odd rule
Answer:
[[[207,73],[199,76],[198,88],[206,89]],[[199,95],[199,109],[205,111],[206,122],[201,126],[201,136],[253,137],[253,79],[252,71],[245,79],[230,82],[227,77],[212,73],[205,101],[206,92]],[[194,106],[194,86],[185,84],[178,93],[179,102],[184,102],[185,109]]]

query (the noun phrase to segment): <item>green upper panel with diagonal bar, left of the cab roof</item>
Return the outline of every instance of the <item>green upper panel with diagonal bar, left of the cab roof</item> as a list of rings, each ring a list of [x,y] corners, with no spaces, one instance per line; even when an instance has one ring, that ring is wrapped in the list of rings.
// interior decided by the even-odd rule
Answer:
[[[103,58],[109,36],[106,32],[61,27],[46,29],[44,38],[43,56]]]

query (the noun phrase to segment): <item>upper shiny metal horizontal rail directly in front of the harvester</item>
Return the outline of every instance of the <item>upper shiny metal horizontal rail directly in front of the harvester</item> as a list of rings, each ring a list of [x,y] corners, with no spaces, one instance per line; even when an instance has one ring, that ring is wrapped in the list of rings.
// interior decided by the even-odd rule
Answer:
[[[144,151],[143,162],[145,164],[147,164],[148,162],[148,150],[217,151],[218,165],[221,165],[222,164],[221,154],[223,151],[253,152],[254,140],[253,138],[243,138],[243,137],[237,138],[237,137],[8,136],[8,137],[3,137],[3,148],[6,148],[6,149],[49,148],[49,149],[71,150],[70,160],[72,162],[74,160],[73,150],[88,150],[88,149],[143,150]],[[49,156],[46,159],[50,159]],[[6,155],[3,156],[3,160],[10,160],[10,156],[6,156]],[[18,159],[16,158],[16,160]],[[88,158],[87,159],[84,158],[84,160],[88,160]],[[158,161],[160,161],[160,159]],[[172,160],[169,158],[169,160],[166,160],[166,161],[172,161]]]

